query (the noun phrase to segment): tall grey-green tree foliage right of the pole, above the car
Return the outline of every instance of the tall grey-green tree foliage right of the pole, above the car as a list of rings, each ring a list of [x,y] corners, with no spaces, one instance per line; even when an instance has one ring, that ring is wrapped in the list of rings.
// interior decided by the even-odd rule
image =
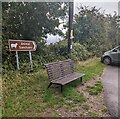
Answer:
[[[105,15],[95,7],[81,6],[75,15],[74,36],[74,42],[100,55],[102,51],[118,45],[117,14]]]

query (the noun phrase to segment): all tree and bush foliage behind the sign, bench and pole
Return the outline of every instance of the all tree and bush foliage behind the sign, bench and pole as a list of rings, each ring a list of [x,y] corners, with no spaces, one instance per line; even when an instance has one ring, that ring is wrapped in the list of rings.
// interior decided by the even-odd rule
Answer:
[[[54,45],[46,45],[47,34],[62,35],[58,28],[60,21],[66,21],[67,3],[50,2],[3,2],[3,68],[15,69],[15,53],[9,51],[8,39],[32,39],[36,41],[37,51],[32,53],[34,67],[44,63],[72,58],[86,60],[100,56],[120,43],[120,28],[117,14],[104,14],[96,7],[81,6],[74,16],[74,39],[71,54],[67,52],[67,40]],[[63,25],[63,24],[62,24]],[[66,23],[66,27],[67,23]],[[28,53],[19,52],[22,71],[29,67]],[[22,67],[21,66],[21,67]],[[29,69],[29,68],[28,68]]]

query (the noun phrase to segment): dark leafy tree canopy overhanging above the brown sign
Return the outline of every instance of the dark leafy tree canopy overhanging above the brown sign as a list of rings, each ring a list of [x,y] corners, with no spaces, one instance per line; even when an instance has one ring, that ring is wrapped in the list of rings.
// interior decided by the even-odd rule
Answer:
[[[14,39],[44,38],[58,34],[59,20],[66,16],[67,5],[47,2],[3,2],[3,34]]]

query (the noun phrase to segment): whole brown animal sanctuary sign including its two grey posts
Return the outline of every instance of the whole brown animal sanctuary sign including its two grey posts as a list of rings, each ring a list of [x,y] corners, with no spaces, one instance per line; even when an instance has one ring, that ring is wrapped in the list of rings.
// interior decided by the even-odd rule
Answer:
[[[18,51],[29,51],[30,65],[31,65],[31,69],[33,69],[31,51],[36,50],[36,43],[34,41],[27,41],[27,40],[9,40],[8,43],[9,43],[9,50],[16,52],[17,69],[20,69]]]

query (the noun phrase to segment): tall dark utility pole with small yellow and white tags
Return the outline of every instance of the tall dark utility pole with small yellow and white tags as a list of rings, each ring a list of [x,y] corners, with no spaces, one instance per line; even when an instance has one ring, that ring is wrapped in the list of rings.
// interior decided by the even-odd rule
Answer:
[[[69,23],[68,23],[68,53],[72,49],[72,39],[73,39],[73,2],[69,2]]]

